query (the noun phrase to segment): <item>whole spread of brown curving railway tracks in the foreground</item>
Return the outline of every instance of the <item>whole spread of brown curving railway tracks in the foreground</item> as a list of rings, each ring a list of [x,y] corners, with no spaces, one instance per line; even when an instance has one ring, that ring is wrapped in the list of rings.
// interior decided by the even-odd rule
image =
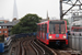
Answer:
[[[51,48],[33,37],[25,37],[19,40],[19,42],[15,43],[13,51],[13,55],[71,55],[72,53],[72,50],[69,48]]]

